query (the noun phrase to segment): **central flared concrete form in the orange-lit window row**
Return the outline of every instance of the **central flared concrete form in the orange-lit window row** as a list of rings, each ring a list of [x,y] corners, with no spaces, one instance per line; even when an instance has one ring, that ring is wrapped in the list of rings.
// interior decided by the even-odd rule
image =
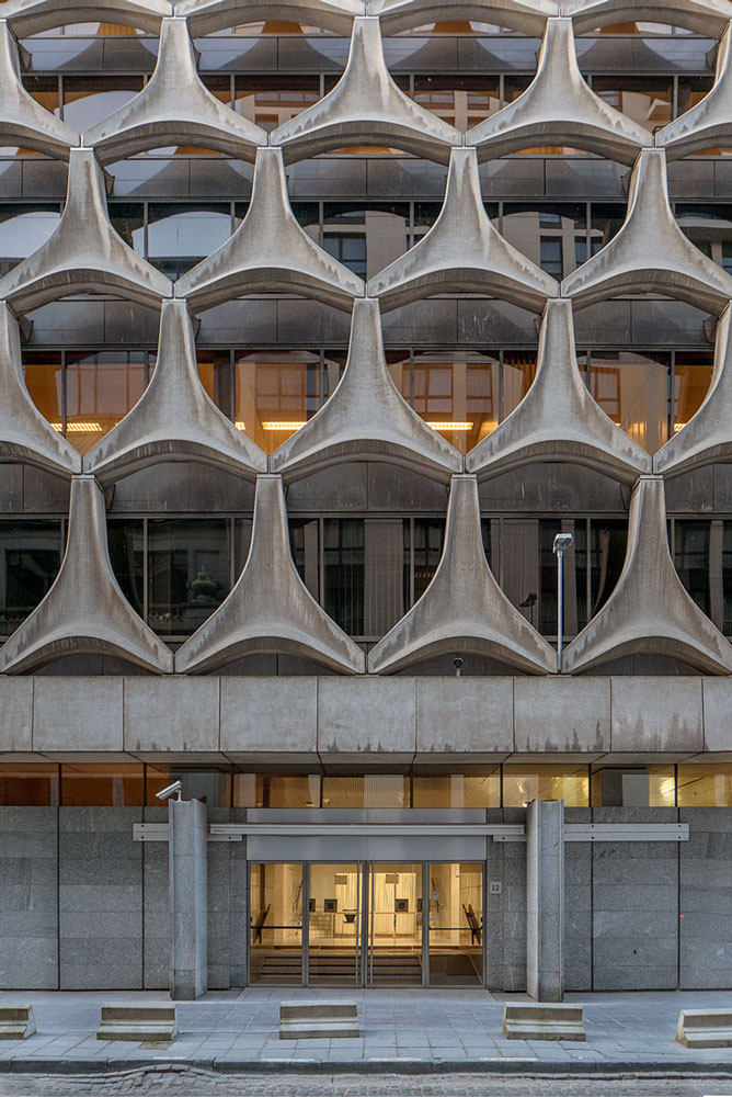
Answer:
[[[437,479],[462,471],[462,457],[402,399],[387,369],[377,301],[356,301],[345,371],[307,426],[270,460],[294,479],[338,461],[384,460]]]

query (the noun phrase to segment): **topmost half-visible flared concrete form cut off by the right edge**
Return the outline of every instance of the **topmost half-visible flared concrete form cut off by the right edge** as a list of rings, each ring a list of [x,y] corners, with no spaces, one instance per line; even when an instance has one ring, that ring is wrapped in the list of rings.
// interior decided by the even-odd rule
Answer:
[[[714,86],[709,94],[655,135],[656,145],[665,148],[668,160],[732,145],[731,25],[728,24],[719,43]]]

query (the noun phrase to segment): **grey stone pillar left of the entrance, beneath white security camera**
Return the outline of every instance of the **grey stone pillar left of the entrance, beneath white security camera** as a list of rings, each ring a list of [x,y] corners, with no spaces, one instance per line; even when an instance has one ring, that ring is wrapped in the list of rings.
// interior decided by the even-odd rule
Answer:
[[[208,988],[208,881],[206,805],[169,800],[170,996],[198,998]]]

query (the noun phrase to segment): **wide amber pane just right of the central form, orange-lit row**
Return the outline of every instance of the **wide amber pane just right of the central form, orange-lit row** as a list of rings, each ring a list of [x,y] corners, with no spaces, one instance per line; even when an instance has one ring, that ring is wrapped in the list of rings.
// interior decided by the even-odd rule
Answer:
[[[437,353],[414,359],[414,410],[461,453],[499,422],[500,365],[481,354]]]

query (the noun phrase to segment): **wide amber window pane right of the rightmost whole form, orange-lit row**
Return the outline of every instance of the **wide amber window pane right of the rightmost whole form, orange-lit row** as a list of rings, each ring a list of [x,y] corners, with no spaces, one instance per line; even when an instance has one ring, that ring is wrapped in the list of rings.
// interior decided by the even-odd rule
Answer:
[[[668,437],[667,354],[593,352],[590,389],[603,411],[649,453]]]

